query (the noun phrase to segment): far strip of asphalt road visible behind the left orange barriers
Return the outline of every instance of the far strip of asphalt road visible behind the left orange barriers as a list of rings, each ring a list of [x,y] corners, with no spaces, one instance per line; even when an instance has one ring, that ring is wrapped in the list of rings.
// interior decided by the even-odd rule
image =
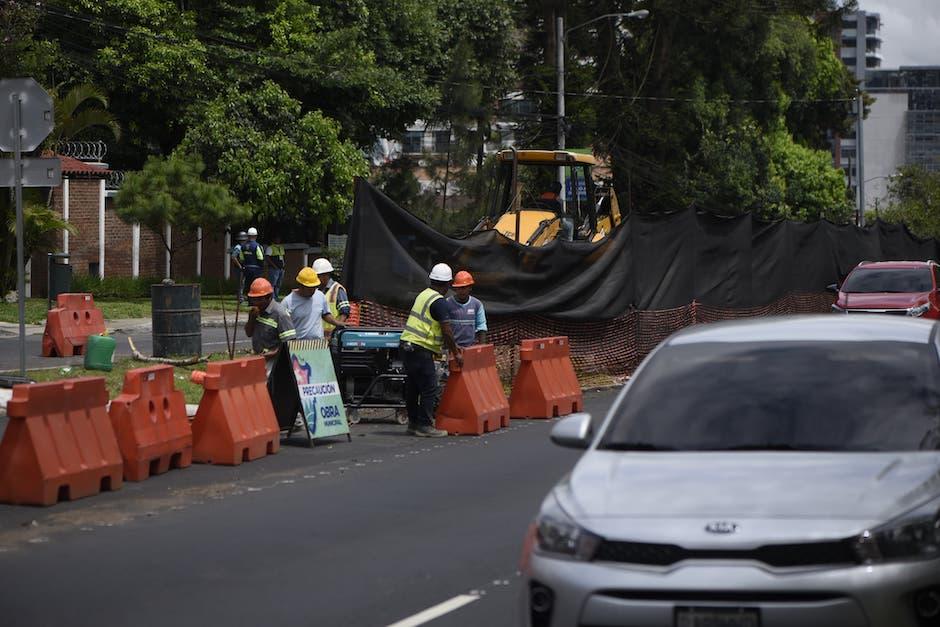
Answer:
[[[242,326],[242,325],[239,325]],[[130,336],[134,345],[144,355],[150,355],[153,349],[153,337],[149,328],[134,331],[116,331],[114,339],[117,345],[114,349],[116,357],[130,357],[131,350],[127,344]],[[239,329],[236,338],[241,348],[251,346],[251,340],[245,337],[243,330]],[[20,366],[19,339],[17,337],[0,337],[0,372],[17,370]],[[215,353],[225,350],[225,329],[204,327],[202,329],[202,350],[204,353]],[[26,368],[53,368],[67,365],[80,365],[83,357],[42,357],[42,335],[26,336]]]

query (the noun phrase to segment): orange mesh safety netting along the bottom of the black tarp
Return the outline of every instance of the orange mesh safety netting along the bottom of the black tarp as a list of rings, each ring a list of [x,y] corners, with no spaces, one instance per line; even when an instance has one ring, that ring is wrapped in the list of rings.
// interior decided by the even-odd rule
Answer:
[[[572,322],[543,316],[494,316],[488,340],[496,345],[497,363],[504,380],[518,368],[518,346],[524,339],[565,335],[571,343],[571,361],[581,373],[623,375],[633,372],[657,344],[692,324],[758,316],[827,313],[835,295],[791,294],[762,307],[723,309],[692,302],[675,309],[637,311],[614,318]],[[401,327],[407,312],[364,301],[356,303],[359,324]]]

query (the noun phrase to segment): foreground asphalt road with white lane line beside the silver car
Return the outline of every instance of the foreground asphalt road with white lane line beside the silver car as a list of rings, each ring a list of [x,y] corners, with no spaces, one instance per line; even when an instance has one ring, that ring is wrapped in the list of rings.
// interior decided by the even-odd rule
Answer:
[[[587,410],[614,395],[587,394]],[[448,604],[404,624],[517,625],[523,536],[578,456],[552,424],[422,440],[363,423],[351,443],[0,506],[0,622],[371,626]]]

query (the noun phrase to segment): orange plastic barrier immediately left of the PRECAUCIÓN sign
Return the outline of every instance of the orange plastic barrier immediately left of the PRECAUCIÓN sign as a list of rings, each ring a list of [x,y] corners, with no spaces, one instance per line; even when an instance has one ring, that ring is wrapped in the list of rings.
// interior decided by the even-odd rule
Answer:
[[[192,380],[205,388],[193,419],[193,461],[237,466],[280,446],[264,357],[216,361]]]

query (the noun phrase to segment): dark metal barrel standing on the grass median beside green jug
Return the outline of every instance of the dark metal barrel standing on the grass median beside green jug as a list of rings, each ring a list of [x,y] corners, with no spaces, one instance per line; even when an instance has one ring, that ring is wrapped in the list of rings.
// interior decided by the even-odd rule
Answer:
[[[151,285],[153,356],[202,355],[199,285]]]

